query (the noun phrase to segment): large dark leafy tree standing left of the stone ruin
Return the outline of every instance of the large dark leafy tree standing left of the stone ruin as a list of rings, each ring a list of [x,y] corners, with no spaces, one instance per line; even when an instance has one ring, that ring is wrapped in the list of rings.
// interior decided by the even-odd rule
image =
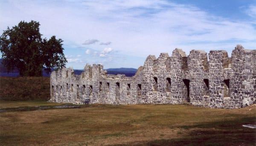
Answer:
[[[42,69],[49,73],[51,69],[65,66],[63,40],[55,36],[42,39],[39,26],[39,22],[33,20],[29,23],[21,21],[12,29],[7,27],[3,31],[0,51],[8,72],[17,68],[20,76],[41,76]]]

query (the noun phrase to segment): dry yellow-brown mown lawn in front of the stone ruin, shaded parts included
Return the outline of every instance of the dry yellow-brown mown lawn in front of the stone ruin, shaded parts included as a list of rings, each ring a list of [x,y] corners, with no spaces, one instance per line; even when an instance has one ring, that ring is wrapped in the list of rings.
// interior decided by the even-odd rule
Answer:
[[[59,105],[12,101],[0,107]],[[256,106],[83,105],[79,109],[0,112],[0,145],[255,146]]]

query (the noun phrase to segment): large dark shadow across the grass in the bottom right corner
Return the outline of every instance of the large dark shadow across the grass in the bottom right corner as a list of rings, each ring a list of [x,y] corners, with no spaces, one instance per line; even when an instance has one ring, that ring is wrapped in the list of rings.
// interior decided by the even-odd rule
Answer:
[[[255,123],[255,117],[236,120],[181,126],[187,135],[181,138],[135,141],[114,146],[255,146],[256,129],[242,127],[244,123]],[[178,132],[178,134],[181,134]]]

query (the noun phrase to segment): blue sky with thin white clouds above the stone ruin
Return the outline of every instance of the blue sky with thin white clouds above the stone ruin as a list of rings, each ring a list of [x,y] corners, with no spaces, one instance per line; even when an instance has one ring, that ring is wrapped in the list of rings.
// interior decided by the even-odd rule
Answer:
[[[43,37],[64,40],[67,67],[143,66],[175,48],[256,49],[256,0],[1,0],[0,31],[39,21]]]

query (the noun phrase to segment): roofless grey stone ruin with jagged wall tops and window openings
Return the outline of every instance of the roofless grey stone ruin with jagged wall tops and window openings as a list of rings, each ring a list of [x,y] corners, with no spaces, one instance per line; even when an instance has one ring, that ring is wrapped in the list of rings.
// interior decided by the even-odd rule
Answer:
[[[111,75],[102,65],[51,74],[51,99],[57,103],[182,104],[242,108],[256,102],[256,50],[237,45],[226,51],[175,49],[170,57],[149,55],[133,77]]]

